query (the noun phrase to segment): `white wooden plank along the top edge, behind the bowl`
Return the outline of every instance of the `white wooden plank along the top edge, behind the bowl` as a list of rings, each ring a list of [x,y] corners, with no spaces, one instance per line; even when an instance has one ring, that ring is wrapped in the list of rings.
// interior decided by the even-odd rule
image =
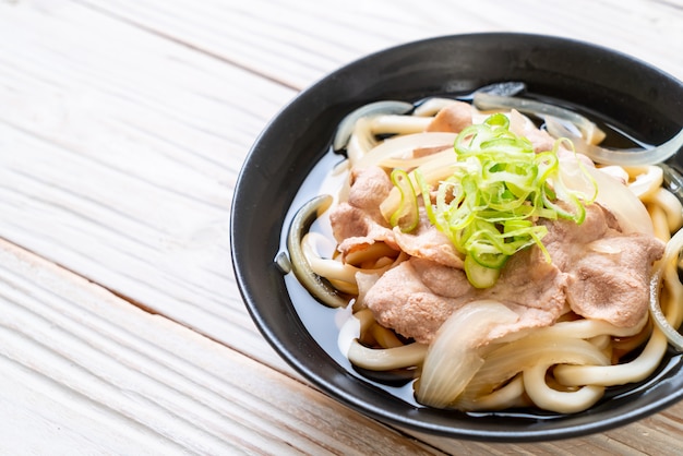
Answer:
[[[82,1],[297,88],[390,46],[475,32],[582,39],[683,79],[683,7],[673,1]]]

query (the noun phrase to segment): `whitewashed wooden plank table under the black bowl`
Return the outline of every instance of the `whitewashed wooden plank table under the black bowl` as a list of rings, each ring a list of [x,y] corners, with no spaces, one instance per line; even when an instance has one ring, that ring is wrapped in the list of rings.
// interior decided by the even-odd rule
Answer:
[[[537,444],[420,435],[281,361],[237,290],[237,175],[369,52],[573,37],[683,80],[681,0],[0,0],[0,454],[674,454],[683,404]]]

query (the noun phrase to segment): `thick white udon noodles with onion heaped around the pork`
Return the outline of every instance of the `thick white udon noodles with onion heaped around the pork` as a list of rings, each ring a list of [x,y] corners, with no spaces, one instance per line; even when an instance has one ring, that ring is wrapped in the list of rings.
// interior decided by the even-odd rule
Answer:
[[[438,197],[433,195],[434,189],[458,166],[453,152],[458,135],[426,131],[438,112],[453,104],[450,99],[432,98],[410,113],[395,113],[396,110],[378,113],[366,109],[372,115],[354,119],[348,141],[342,141],[347,158],[333,171],[345,179],[338,194],[333,195],[332,207],[348,199],[348,176],[352,170],[373,166],[382,167],[387,175],[399,170],[393,175],[395,189],[378,209],[384,214],[387,225],[412,229],[417,220],[416,214],[410,213],[410,205],[415,205],[418,197],[426,197],[424,204],[430,205],[429,199]],[[474,107],[468,109],[474,112],[475,124],[491,119],[492,112],[480,112]],[[516,111],[505,111],[503,116],[510,121],[511,129],[518,131],[529,122]],[[603,136],[596,134],[586,140],[595,143]],[[391,140],[384,140],[386,137]],[[566,141],[555,144],[573,153]],[[428,152],[416,154],[416,149]],[[556,149],[553,153],[559,154]],[[580,159],[576,161],[580,164],[586,157],[578,156]],[[683,224],[683,209],[679,200],[662,187],[660,167],[611,165],[592,168],[592,165],[582,178],[584,203],[591,202],[591,184],[599,189],[603,185],[627,188],[631,196],[626,203],[618,201],[623,200],[624,193],[612,197],[613,201],[609,196],[598,201],[614,214],[623,229],[649,231],[663,242],[670,241],[672,233]],[[416,173],[416,169],[419,172]],[[636,199],[640,203],[633,204]],[[319,223],[324,226],[328,220],[321,217]],[[325,237],[327,239],[323,239]],[[495,299],[469,302],[443,323],[431,344],[416,343],[380,325],[373,312],[363,304],[363,290],[410,254],[396,251],[384,242],[375,242],[368,249],[323,257],[317,245],[325,241],[336,242],[328,235],[311,231],[302,237],[298,247],[303,252],[307,267],[325,279],[323,285],[313,287],[331,286],[332,292],[337,293],[334,302],[347,302],[339,300],[338,296],[349,298],[349,316],[342,328],[339,346],[359,368],[412,372],[416,398],[426,406],[460,410],[538,407],[560,413],[577,412],[596,404],[606,387],[648,377],[667,350],[668,338],[658,325],[652,324],[649,314],[633,326],[622,327],[582,317],[568,307],[554,324],[490,339],[486,336],[491,328],[517,319],[515,312]],[[542,248],[535,240],[524,245],[525,249],[539,247]],[[655,271],[660,273],[656,283],[660,287],[656,293],[658,307],[668,323],[678,328],[683,322],[680,305],[683,285],[678,274],[678,252],[664,256],[652,267],[652,274]]]

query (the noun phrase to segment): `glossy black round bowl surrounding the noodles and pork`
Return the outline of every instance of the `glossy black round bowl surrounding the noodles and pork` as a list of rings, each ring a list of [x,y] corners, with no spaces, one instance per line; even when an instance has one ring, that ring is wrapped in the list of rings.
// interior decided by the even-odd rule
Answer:
[[[370,417],[417,431],[507,442],[565,439],[622,425],[674,404],[683,396],[683,360],[672,352],[648,381],[612,389],[580,413],[476,415],[420,407],[405,387],[385,386],[354,371],[336,348],[334,312],[275,266],[291,207],[317,191],[320,171],[314,166],[323,159],[319,168],[328,168],[334,161],[329,145],[345,115],[374,100],[416,101],[501,81],[525,82],[536,96],[578,107],[645,143],[673,136],[683,119],[680,81],[628,56],[570,39],[456,35],[352,62],[284,108],[244,163],[232,204],[231,248],[249,312],[277,352],[323,392]]]

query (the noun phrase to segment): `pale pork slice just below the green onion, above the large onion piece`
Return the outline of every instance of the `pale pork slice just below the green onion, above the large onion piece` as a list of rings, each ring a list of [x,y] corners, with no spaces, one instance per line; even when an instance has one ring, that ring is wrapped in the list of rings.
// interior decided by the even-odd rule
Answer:
[[[513,324],[491,331],[484,343],[528,327],[552,324],[564,309],[564,277],[539,255],[529,252],[517,266],[539,281],[528,284],[520,273],[503,274],[495,286],[474,288],[462,269],[412,257],[386,272],[364,296],[380,324],[405,337],[430,344],[443,322],[463,305],[479,299],[500,300],[519,315]]]

